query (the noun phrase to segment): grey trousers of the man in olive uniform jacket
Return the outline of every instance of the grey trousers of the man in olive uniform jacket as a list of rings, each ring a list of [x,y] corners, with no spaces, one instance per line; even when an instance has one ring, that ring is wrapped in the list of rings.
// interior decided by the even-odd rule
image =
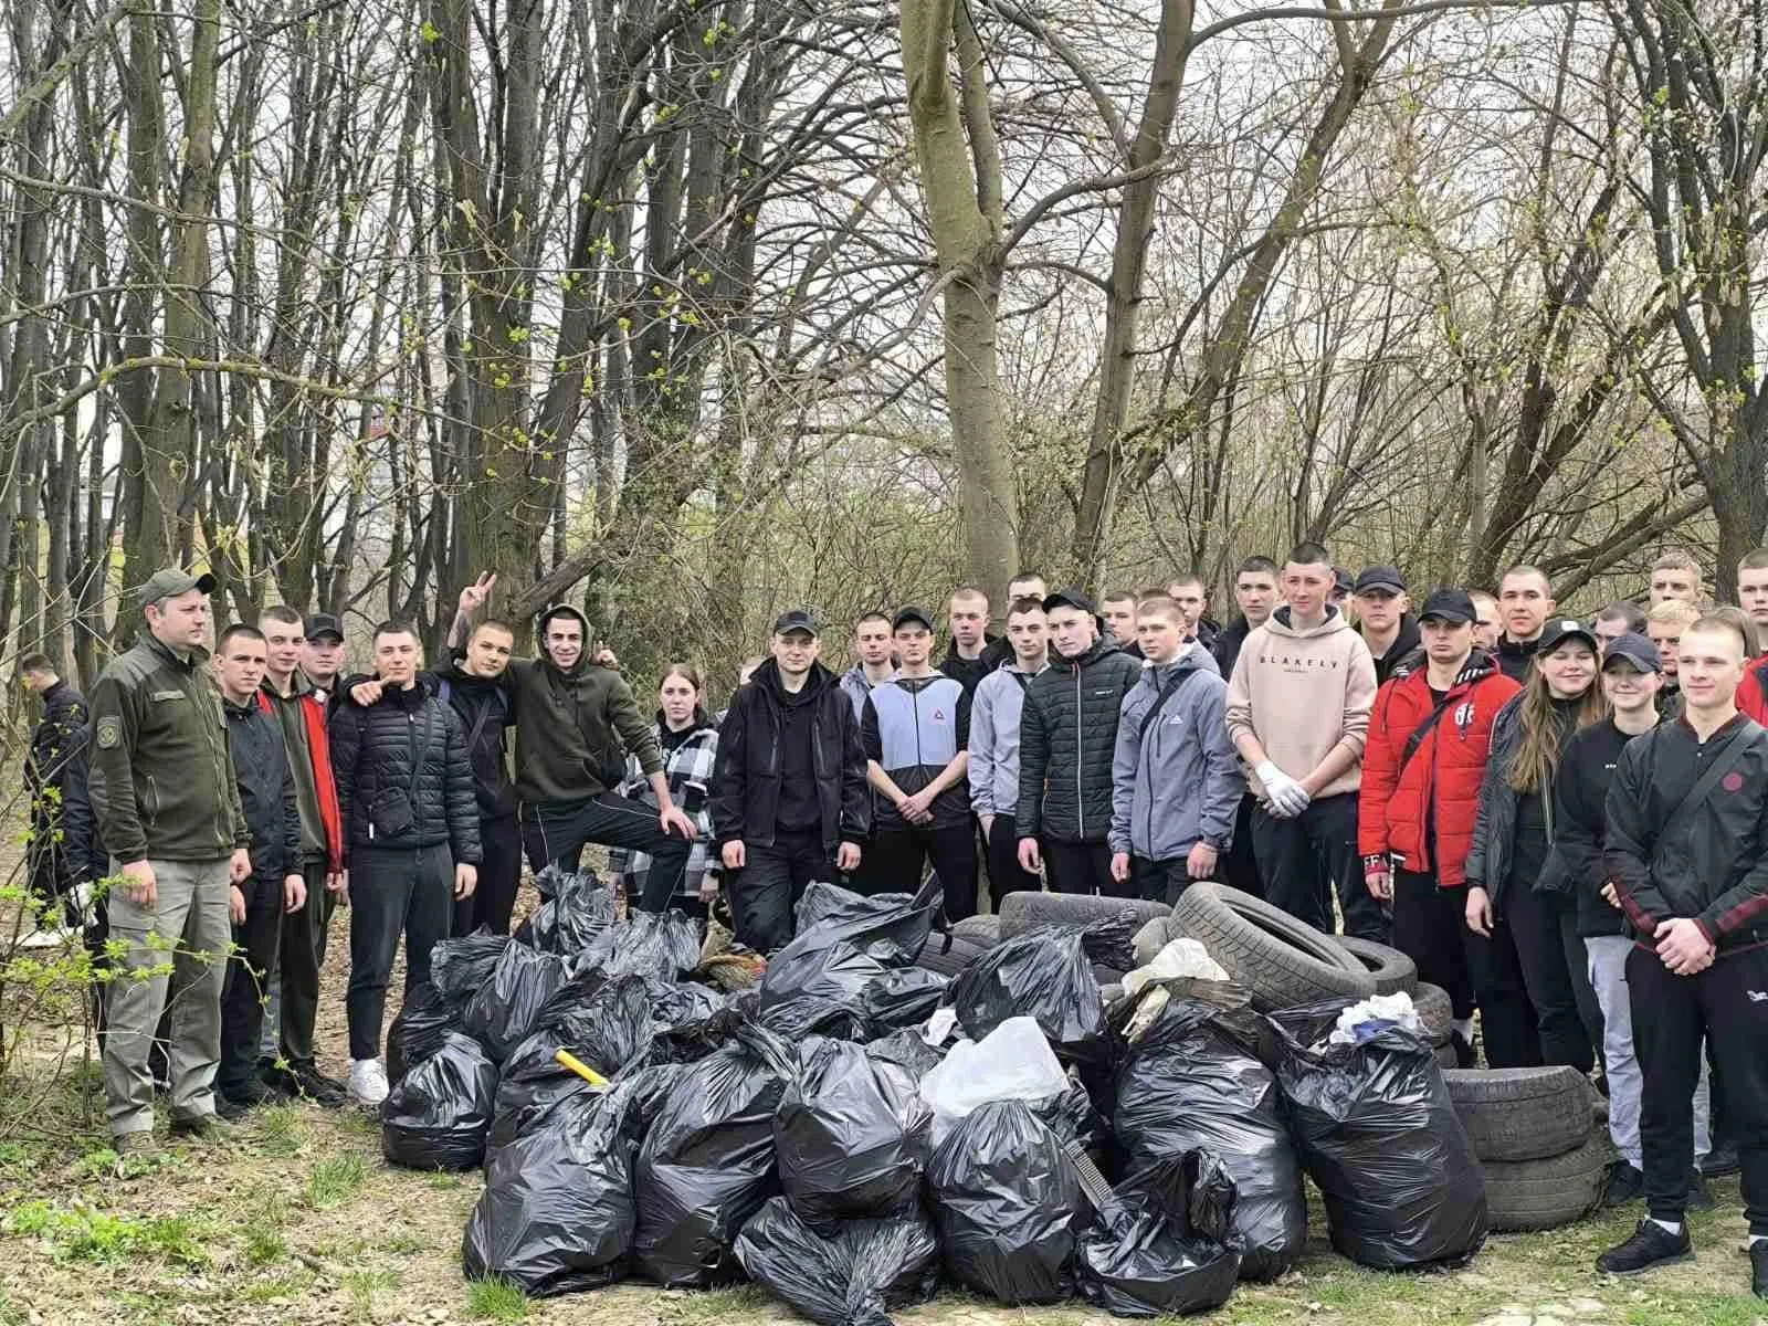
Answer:
[[[154,1077],[147,1054],[159,1015],[171,1010],[171,1117],[214,1114],[221,1061],[221,985],[233,944],[228,859],[152,861],[157,900],[138,907],[111,889],[110,937],[127,944],[111,978],[104,1031],[104,1101],[113,1137],[150,1132]],[[111,873],[122,866],[111,863]],[[170,1002],[168,1002],[170,1001]]]

